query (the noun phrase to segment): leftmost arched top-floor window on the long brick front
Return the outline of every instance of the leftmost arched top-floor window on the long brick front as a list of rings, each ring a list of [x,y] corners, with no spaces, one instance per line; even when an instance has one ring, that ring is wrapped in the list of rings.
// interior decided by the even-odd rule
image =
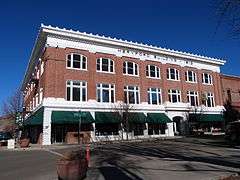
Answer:
[[[87,70],[87,57],[81,54],[68,54],[67,67],[72,69]]]

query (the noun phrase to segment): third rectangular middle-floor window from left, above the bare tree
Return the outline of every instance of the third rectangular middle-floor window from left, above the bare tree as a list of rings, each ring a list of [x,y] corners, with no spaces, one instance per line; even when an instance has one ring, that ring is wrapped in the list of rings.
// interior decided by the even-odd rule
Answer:
[[[124,101],[128,104],[139,104],[139,88],[137,86],[124,87]]]

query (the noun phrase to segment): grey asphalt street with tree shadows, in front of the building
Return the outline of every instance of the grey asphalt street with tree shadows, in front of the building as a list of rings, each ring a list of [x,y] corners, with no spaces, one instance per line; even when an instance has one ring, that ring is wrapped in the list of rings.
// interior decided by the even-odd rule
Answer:
[[[78,147],[77,147],[78,148]],[[59,154],[76,149],[1,151],[0,179],[57,179]],[[92,146],[87,180],[219,179],[240,172],[240,149],[184,138]]]

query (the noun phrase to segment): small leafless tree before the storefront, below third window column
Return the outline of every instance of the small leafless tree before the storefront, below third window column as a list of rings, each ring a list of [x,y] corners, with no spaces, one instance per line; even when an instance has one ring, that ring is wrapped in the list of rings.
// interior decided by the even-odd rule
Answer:
[[[122,130],[122,139],[123,139],[123,132],[127,133],[127,140],[128,140],[128,133],[130,131],[130,116],[131,111],[133,111],[133,106],[119,102],[117,105],[114,106],[114,111],[120,117],[121,122],[121,130]]]

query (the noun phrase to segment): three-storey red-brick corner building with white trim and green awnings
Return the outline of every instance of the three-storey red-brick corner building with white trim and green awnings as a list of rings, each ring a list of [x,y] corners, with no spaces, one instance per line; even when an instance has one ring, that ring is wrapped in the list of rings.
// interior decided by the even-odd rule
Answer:
[[[116,112],[127,104],[129,138],[184,134],[193,115],[222,121],[224,63],[42,25],[22,83],[25,125],[45,145],[71,142],[79,121],[90,141],[122,139]]]

